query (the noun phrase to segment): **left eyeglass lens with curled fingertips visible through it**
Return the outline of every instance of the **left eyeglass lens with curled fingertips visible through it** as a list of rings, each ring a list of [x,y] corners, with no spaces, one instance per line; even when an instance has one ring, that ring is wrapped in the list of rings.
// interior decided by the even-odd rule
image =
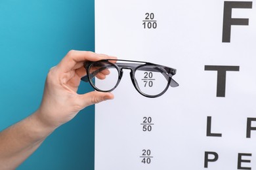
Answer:
[[[108,61],[95,62],[89,67],[89,78],[93,86],[100,91],[114,90],[119,77],[119,71],[113,63]],[[95,78],[95,80],[93,80]]]

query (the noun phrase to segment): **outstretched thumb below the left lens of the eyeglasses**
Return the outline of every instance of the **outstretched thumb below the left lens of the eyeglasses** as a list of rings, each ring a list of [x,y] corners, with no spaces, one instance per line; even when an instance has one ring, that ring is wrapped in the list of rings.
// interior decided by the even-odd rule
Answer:
[[[79,100],[81,102],[82,107],[87,107],[89,105],[93,105],[96,103],[100,103],[102,101],[106,101],[109,99],[114,99],[114,95],[110,92],[89,92],[82,95],[79,95]]]

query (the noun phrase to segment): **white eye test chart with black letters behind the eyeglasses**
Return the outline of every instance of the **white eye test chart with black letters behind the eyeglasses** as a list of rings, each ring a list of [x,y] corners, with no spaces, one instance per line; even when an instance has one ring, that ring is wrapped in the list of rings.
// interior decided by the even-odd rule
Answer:
[[[255,1],[95,0],[97,53],[177,69],[161,97],[125,70],[95,106],[95,170],[256,169]]]

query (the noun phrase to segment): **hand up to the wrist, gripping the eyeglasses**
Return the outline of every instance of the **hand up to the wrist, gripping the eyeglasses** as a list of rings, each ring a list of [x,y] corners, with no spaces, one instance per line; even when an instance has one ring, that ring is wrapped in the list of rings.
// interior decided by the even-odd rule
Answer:
[[[45,82],[41,106],[35,116],[45,126],[56,128],[72,120],[79,110],[89,105],[113,99],[112,93],[77,94],[80,78],[86,75],[84,61],[116,59],[94,52],[71,50],[58,65],[51,68]]]

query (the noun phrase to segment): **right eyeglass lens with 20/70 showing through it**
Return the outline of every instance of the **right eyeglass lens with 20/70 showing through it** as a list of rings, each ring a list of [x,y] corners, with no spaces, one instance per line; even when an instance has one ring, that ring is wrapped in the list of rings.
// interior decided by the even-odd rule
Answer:
[[[159,95],[168,87],[168,78],[165,78],[166,74],[156,66],[143,66],[139,67],[135,71],[135,82],[137,84],[137,88],[142,93],[146,95]]]

